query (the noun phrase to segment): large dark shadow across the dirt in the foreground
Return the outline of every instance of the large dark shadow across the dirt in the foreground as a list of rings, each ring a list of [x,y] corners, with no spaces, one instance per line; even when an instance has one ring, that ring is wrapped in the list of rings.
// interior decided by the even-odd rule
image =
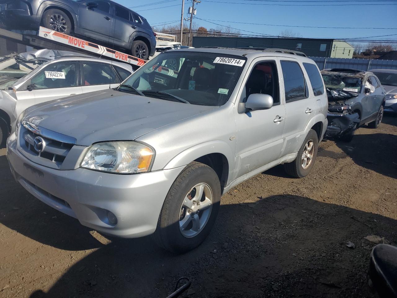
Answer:
[[[189,253],[165,252],[148,237],[112,239],[31,298],[166,297],[182,276],[195,298],[373,297],[366,272],[374,244],[364,237],[395,243],[396,228],[394,219],[296,195],[221,205],[210,236]]]

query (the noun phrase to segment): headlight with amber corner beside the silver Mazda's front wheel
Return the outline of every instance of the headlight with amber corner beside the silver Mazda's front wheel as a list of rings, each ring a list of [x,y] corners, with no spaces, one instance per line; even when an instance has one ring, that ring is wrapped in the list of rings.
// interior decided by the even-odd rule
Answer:
[[[150,170],[154,150],[134,141],[96,143],[85,154],[81,167],[113,173],[143,173]]]

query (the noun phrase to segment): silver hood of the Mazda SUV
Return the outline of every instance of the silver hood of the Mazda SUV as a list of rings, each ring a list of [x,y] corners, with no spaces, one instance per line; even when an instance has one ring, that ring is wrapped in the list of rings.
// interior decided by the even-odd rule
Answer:
[[[113,89],[57,99],[29,108],[25,120],[74,137],[77,145],[135,140],[162,126],[217,108],[176,103]]]

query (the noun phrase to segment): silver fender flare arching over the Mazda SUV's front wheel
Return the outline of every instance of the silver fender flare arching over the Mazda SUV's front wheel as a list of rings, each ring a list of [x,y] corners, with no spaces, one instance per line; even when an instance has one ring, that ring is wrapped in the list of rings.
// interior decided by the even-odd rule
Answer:
[[[231,147],[225,141],[214,140],[189,147],[173,157],[165,166],[164,170],[185,166],[199,157],[211,153],[220,153],[226,157],[229,164],[229,172],[234,168],[235,157]],[[229,176],[230,177],[230,176]]]

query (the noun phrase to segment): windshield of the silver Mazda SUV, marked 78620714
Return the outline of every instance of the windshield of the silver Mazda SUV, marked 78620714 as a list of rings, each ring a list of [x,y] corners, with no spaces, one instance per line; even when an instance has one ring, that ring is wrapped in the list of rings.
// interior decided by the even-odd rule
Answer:
[[[121,83],[118,91],[220,106],[229,99],[245,61],[244,57],[225,54],[166,52],[141,66]]]

